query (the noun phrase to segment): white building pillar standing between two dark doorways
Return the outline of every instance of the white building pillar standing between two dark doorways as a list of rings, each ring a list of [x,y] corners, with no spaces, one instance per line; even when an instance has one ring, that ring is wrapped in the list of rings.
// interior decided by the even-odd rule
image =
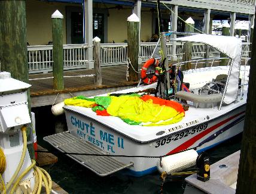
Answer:
[[[86,22],[86,36],[84,43],[89,46],[93,45],[93,1],[84,0],[84,5],[86,5],[85,10],[85,22]],[[86,49],[86,60],[93,60],[93,48]],[[87,69],[92,69],[94,67],[93,62],[87,62]]]

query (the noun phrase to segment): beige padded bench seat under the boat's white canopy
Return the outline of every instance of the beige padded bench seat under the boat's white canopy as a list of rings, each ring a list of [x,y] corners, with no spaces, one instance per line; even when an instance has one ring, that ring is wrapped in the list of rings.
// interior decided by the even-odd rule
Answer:
[[[194,93],[181,90],[179,92],[176,92],[175,96],[176,98],[179,98],[179,101],[181,101],[181,99],[184,99],[185,101],[194,102],[194,104],[196,104],[196,107],[199,104],[212,104],[212,107],[214,107],[215,104],[221,102],[221,98],[223,95],[221,93],[212,93],[211,95],[196,95]]]

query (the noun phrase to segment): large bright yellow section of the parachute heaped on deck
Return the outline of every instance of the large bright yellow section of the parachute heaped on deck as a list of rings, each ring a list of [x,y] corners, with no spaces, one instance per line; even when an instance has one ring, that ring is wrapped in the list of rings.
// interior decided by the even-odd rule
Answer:
[[[161,126],[181,121],[183,112],[165,105],[153,104],[153,101],[143,101],[135,96],[111,96],[111,104],[106,111],[122,119],[143,122],[143,126]]]

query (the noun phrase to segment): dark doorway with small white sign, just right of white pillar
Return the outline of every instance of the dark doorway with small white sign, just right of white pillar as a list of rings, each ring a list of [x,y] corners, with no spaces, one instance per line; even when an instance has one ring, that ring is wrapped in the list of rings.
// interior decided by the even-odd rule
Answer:
[[[93,14],[93,37],[95,36],[104,43],[104,14]]]

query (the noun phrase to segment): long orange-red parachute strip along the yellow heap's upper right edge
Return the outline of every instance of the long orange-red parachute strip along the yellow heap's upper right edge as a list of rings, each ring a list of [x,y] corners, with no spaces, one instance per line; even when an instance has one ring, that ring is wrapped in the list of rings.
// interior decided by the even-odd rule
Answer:
[[[185,115],[185,111],[184,111],[182,105],[179,104],[178,102],[168,101],[168,100],[157,98],[157,97],[150,96],[150,95],[144,95],[144,96],[141,97],[141,99],[144,100],[144,101],[148,101],[149,99],[152,99],[154,104],[159,104],[161,106],[166,105],[167,107],[172,107],[177,112],[183,112],[184,115]]]

